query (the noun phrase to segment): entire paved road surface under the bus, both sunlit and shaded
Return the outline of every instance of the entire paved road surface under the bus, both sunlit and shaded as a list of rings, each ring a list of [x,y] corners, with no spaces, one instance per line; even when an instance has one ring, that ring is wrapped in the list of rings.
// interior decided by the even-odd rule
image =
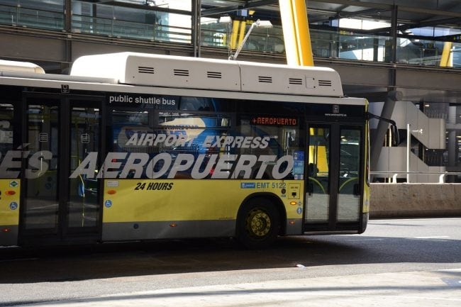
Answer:
[[[1,249],[0,306],[461,306],[461,218],[363,235]]]

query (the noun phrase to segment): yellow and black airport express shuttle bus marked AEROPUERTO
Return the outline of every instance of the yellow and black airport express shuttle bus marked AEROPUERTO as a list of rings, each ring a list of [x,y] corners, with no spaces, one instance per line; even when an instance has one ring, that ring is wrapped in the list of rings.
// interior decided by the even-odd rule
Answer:
[[[130,52],[70,75],[0,67],[0,245],[365,231],[367,101],[332,69]]]

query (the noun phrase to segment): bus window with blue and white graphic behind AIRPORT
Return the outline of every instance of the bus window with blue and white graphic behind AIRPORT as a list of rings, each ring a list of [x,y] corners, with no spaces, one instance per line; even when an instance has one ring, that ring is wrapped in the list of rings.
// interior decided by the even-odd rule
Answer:
[[[111,152],[126,153],[111,178],[211,177],[218,157],[226,153],[223,136],[230,118],[179,112],[113,111]],[[150,123],[157,123],[155,126]],[[113,172],[113,170],[111,170]],[[206,173],[205,173],[206,172]],[[107,174],[107,173],[106,173]],[[107,177],[107,176],[106,176]]]

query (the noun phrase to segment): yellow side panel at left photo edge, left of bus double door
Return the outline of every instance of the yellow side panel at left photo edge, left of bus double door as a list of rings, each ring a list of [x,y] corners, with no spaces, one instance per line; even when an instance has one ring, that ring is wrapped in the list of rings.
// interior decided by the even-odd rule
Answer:
[[[0,246],[18,244],[19,179],[0,179]]]

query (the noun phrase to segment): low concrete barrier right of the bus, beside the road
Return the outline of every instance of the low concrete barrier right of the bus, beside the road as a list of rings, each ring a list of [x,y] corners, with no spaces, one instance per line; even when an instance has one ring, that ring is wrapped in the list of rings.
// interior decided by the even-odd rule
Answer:
[[[370,218],[461,216],[461,184],[371,184]]]

